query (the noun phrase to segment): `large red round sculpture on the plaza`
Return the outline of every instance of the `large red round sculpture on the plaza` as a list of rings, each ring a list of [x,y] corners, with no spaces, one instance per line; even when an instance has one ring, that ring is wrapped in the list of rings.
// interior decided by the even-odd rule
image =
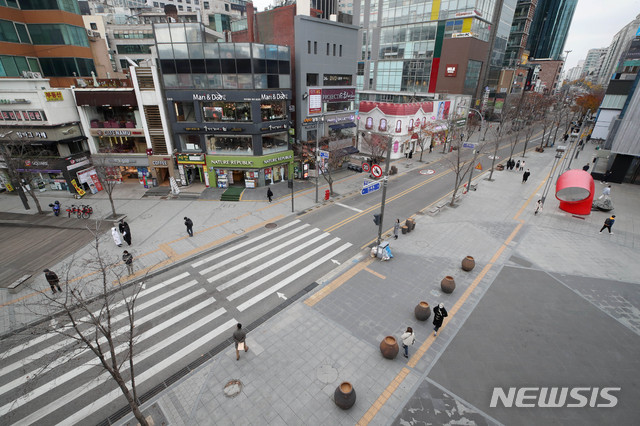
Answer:
[[[560,209],[573,214],[590,214],[594,190],[591,174],[580,169],[567,170],[556,182],[556,198],[560,200]]]

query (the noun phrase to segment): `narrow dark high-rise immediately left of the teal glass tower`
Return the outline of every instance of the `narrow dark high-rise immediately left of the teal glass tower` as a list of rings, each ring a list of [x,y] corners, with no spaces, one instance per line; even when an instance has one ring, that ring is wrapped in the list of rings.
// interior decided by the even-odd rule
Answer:
[[[518,0],[504,55],[505,67],[514,68],[527,61],[529,57],[527,41],[537,5],[538,0]]]

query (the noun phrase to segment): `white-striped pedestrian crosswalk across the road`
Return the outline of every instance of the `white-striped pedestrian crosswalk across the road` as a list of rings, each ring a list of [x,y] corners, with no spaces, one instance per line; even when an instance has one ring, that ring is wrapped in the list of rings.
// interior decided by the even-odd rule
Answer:
[[[150,279],[135,304],[138,395],[228,338],[239,315],[279,303],[276,292],[292,285],[298,291],[333,268],[332,260],[344,261],[350,246],[294,220]],[[103,308],[95,305],[77,322],[104,315]],[[110,315],[113,354],[122,363],[130,348],[124,301],[114,300]],[[96,355],[73,336],[59,320],[46,334],[0,342],[0,424],[97,423],[114,406],[127,405]],[[94,337],[94,344],[107,345],[105,337]],[[111,356],[107,350],[107,362]]]

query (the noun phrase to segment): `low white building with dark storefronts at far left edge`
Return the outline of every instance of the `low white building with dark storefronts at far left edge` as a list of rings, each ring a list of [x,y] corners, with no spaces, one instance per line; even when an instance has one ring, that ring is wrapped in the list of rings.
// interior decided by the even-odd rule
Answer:
[[[0,144],[19,161],[14,165],[27,184],[72,193],[100,188],[71,89],[52,89],[47,79],[5,78],[0,98]],[[0,168],[3,184],[9,160]]]

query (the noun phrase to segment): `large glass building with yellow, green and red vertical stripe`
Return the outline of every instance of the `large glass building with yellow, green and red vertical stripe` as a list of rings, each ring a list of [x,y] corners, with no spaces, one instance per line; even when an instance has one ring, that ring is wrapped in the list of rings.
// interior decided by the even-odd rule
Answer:
[[[515,6],[516,0],[357,2],[360,99],[462,93],[479,100],[486,85],[497,84]]]

